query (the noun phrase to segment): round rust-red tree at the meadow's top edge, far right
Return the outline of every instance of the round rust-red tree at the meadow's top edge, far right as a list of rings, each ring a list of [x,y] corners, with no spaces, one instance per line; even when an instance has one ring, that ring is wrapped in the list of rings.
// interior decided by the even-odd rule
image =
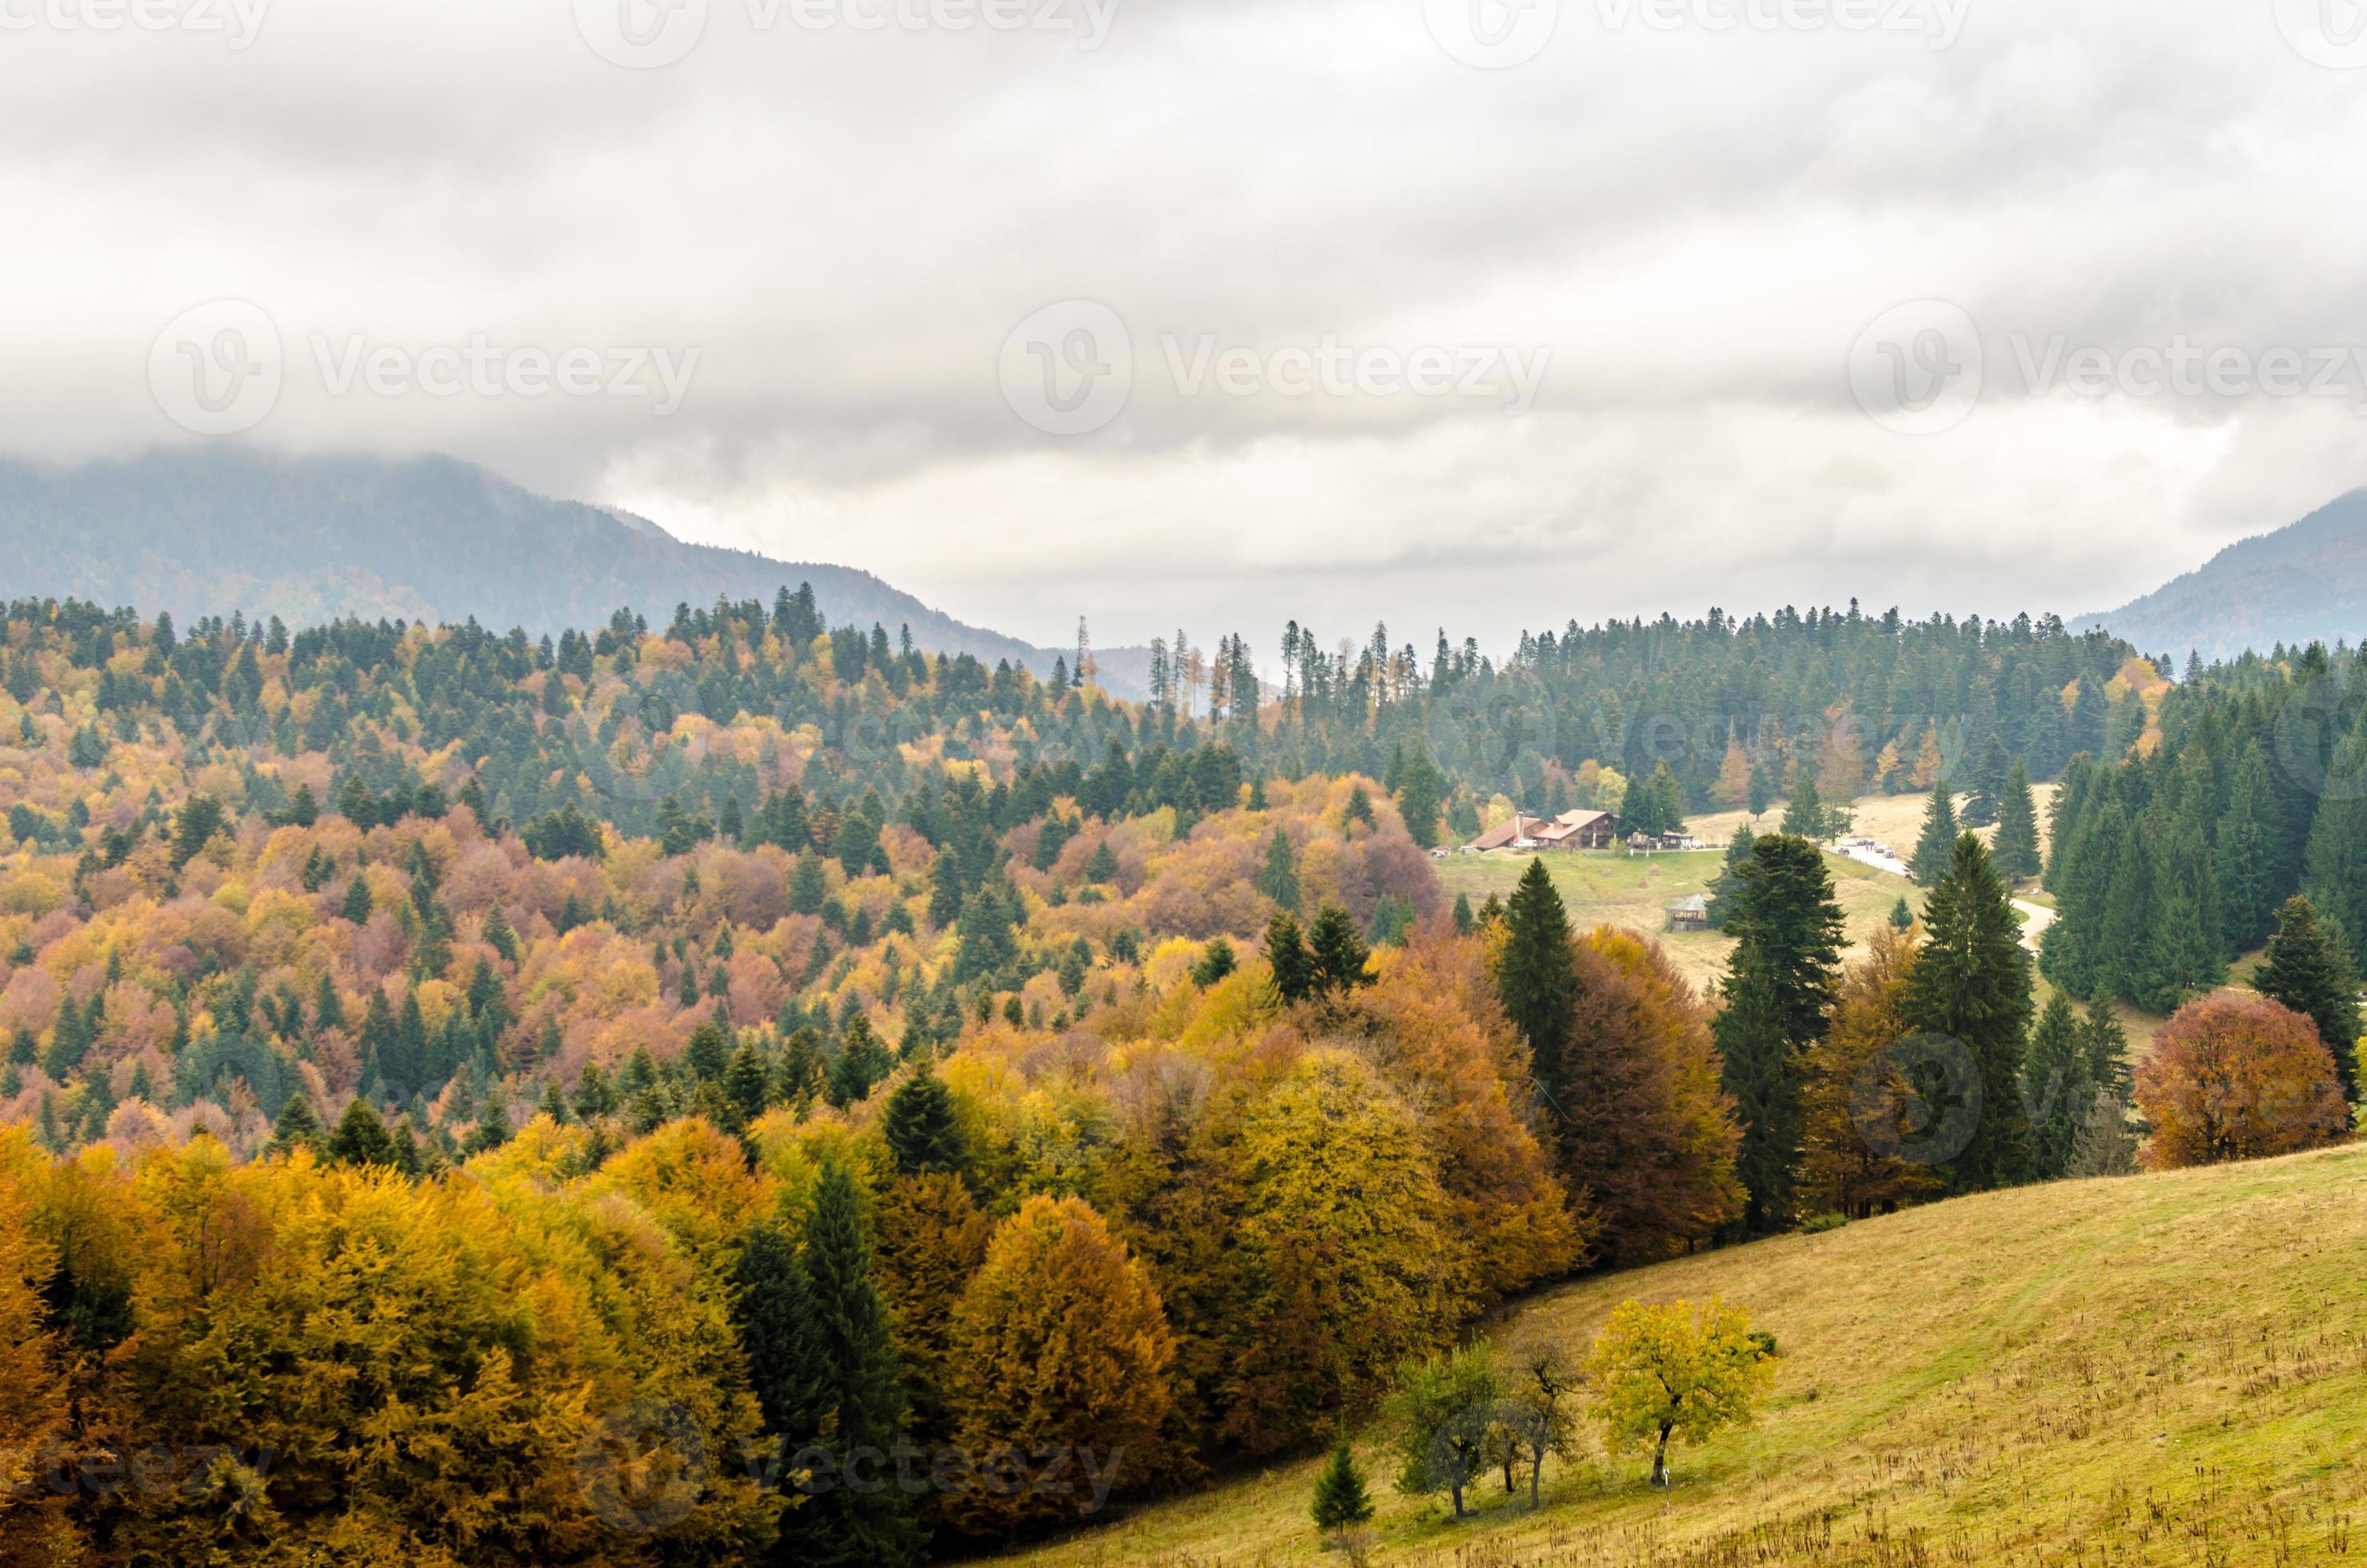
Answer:
[[[2317,1026],[2268,997],[2208,995],[2180,1007],[2137,1063],[2154,1170],[2317,1149],[2350,1135],[2334,1054]]]

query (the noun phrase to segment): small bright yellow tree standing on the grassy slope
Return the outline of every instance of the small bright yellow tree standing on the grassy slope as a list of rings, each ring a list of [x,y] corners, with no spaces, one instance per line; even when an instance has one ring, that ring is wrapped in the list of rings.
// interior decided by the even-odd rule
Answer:
[[[1775,1383],[1773,1341],[1718,1298],[1647,1307],[1619,1305],[1586,1381],[1612,1452],[1650,1452],[1652,1485],[1669,1485],[1669,1445],[1709,1442],[1728,1426],[1749,1426]]]

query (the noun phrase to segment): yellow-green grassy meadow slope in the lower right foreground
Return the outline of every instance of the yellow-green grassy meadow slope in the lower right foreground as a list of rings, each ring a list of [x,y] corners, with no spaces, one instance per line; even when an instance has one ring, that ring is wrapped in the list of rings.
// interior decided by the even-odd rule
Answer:
[[[1380,1499],[1380,1561],[2327,1563],[2367,1554],[2367,1146],[1988,1194],[1562,1286],[1498,1343],[1584,1348],[1624,1298],[1721,1293],[1785,1350],[1763,1421],[1548,1471],[1479,1521]],[[1318,1561],[1314,1461],[1008,1561]],[[1342,1559],[1330,1559],[1342,1561]]]

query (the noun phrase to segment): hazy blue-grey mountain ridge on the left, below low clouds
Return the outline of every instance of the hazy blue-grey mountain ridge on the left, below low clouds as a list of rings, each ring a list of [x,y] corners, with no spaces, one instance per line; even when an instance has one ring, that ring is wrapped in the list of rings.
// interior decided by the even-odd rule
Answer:
[[[869,571],[691,545],[663,526],[535,495],[454,457],[282,457],[156,450],[121,462],[0,462],[0,595],[76,595],[180,618],[246,611],[592,628],[618,606],[772,602],[812,583],[833,623],[911,628],[928,651],[1051,675],[1060,649],[966,625]],[[1124,658],[1103,670],[1141,696]]]

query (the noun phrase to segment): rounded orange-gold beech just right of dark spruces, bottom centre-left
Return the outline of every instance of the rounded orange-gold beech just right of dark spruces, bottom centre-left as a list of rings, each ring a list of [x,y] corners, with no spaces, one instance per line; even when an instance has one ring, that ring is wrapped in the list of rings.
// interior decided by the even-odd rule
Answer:
[[[1084,1199],[1027,1199],[994,1229],[952,1352],[961,1450],[982,1476],[1030,1476],[954,1492],[963,1525],[1082,1518],[1160,1469],[1174,1341],[1148,1270]]]

